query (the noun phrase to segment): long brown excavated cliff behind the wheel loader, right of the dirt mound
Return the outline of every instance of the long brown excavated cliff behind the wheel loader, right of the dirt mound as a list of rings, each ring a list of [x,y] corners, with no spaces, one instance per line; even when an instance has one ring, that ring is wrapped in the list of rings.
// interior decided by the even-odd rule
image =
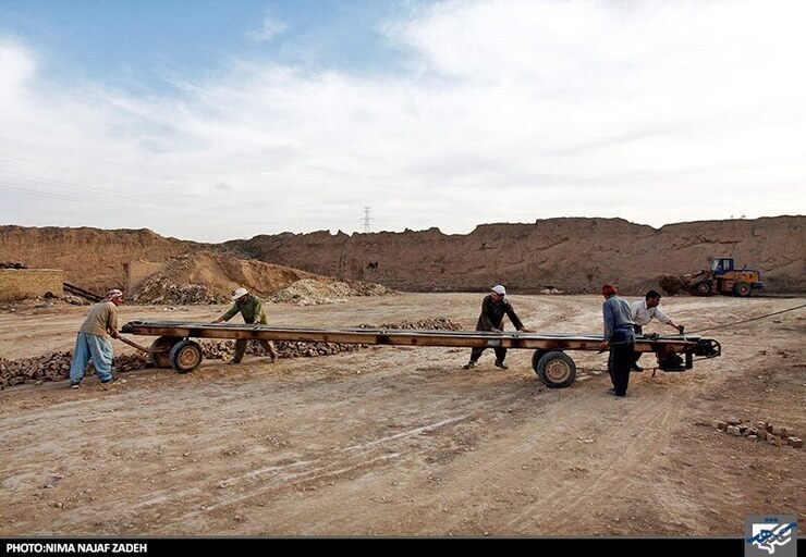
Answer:
[[[229,242],[257,259],[309,272],[378,282],[402,290],[513,292],[548,286],[628,294],[657,288],[663,275],[704,269],[709,256],[732,256],[761,270],[765,292],[806,292],[805,216],[703,221],[660,230],[622,219],[548,219],[485,224],[468,235],[423,232],[280,234]]]

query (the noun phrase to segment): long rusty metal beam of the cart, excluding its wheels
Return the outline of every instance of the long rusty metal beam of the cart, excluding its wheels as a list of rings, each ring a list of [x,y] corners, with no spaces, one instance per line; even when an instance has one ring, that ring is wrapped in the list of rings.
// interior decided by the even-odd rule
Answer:
[[[310,329],[254,324],[188,323],[181,321],[132,321],[121,332],[146,336],[182,338],[244,338],[309,343],[368,344],[394,346],[503,347],[540,350],[599,350],[601,335],[562,333],[488,333],[481,331],[436,331],[411,329]],[[635,350],[642,352],[685,352],[698,336],[639,336]]]

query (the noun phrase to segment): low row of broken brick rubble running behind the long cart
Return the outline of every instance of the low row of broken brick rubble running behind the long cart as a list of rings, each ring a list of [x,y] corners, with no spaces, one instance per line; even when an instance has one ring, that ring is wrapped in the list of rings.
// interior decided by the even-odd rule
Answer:
[[[362,324],[362,329],[417,329],[460,331],[462,327],[449,319],[426,319],[417,322],[382,323],[380,325]],[[200,341],[202,350],[207,359],[230,359],[235,350],[234,341]],[[355,351],[366,348],[364,344],[278,342],[274,349],[280,358],[316,358],[334,354]],[[248,343],[246,354],[268,356],[258,343]],[[0,389],[22,384],[42,384],[45,381],[60,381],[70,374],[72,351],[49,352],[36,358],[7,360],[0,357]],[[149,357],[144,352],[117,356],[112,361],[118,372],[142,370],[150,366]],[[94,375],[90,363],[87,374]]]

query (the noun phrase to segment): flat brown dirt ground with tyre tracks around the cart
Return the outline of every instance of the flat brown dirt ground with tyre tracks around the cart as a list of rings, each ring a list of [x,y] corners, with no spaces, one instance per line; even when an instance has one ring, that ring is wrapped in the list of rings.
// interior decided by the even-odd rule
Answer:
[[[268,310],[280,325],[450,318],[472,330],[480,299],[402,294]],[[512,302],[540,332],[601,329],[598,296]],[[663,299],[692,333],[803,304]],[[71,349],[87,309],[4,308],[0,354]],[[124,305],[121,320],[222,310]],[[803,531],[804,449],[710,424],[737,417],[806,437],[805,332],[804,309],[704,332],[722,357],[652,376],[645,355],[623,399],[606,393],[607,355],[571,352],[577,381],[550,389],[526,350],[511,350],[501,371],[491,351],[463,370],[468,349],[410,347],[7,388],[0,536],[741,536],[746,515],[770,512],[797,515]]]

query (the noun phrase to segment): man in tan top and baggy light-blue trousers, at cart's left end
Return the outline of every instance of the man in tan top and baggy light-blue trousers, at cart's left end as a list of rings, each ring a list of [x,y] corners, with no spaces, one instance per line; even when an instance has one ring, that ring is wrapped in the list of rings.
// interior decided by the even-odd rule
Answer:
[[[113,288],[107,293],[103,301],[96,304],[78,330],[73,347],[73,359],[70,362],[70,386],[78,388],[84,379],[84,371],[89,359],[93,359],[98,379],[101,383],[118,381],[112,375],[112,338],[120,338],[118,331],[118,306],[123,301],[123,293]]]

